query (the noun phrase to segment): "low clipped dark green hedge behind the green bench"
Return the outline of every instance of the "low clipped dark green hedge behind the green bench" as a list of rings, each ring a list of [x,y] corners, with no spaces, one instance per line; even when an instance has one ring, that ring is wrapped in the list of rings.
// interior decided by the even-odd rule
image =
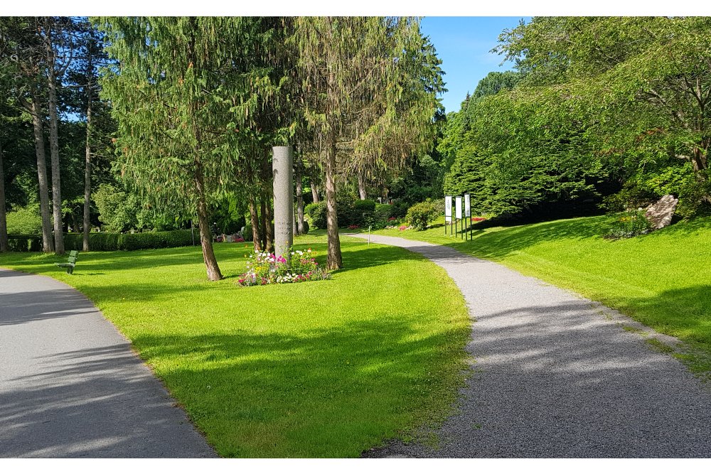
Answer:
[[[67,250],[82,249],[81,234],[65,234],[64,247]],[[10,235],[8,238],[11,252],[41,252],[41,235]],[[91,250],[139,250],[165,249],[169,247],[187,247],[193,244],[191,230],[169,230],[166,232],[137,232],[135,234],[111,234],[91,232],[89,248]],[[195,231],[195,244],[200,244],[200,233]]]

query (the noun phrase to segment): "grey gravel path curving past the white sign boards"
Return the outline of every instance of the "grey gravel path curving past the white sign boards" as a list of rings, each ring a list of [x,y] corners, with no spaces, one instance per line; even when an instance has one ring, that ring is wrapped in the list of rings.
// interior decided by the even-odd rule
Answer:
[[[474,372],[439,448],[395,441],[367,457],[711,457],[711,391],[644,342],[675,339],[450,247],[370,240],[442,266],[476,323],[466,348]]]

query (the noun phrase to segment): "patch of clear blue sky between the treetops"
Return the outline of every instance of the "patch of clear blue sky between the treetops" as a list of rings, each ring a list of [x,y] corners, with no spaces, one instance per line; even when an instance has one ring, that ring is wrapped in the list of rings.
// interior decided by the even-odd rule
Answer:
[[[503,58],[489,53],[498,44],[498,35],[513,28],[520,16],[426,16],[422,18],[422,33],[429,36],[447,72],[444,81],[448,92],[442,97],[447,112],[459,110],[466,92],[474,92],[477,83],[491,71],[512,69],[502,66]]]

